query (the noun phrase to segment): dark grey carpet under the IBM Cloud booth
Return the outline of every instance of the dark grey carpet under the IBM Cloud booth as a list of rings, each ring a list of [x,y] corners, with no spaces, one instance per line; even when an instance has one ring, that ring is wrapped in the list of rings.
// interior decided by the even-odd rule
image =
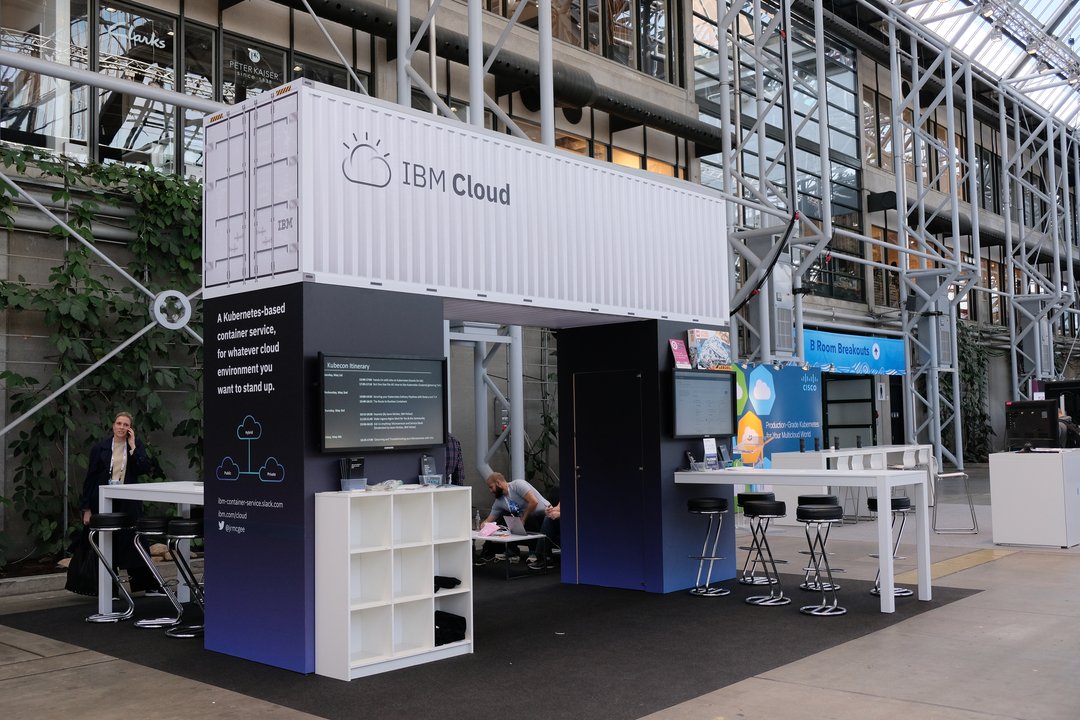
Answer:
[[[475,652],[352,682],[303,676],[208,652],[200,641],[157,630],[83,622],[91,607],[0,617],[0,623],[327,719],[632,720],[747,677],[874,633],[973,594],[934,587],[934,600],[900,598],[878,612],[870,584],[845,579],[848,614],[810,617],[792,604],[761,608],[743,598],[760,588],[725,583],[732,594],[699,598],[562,585],[557,574],[505,582],[474,576]],[[153,614],[156,599],[139,601]]]

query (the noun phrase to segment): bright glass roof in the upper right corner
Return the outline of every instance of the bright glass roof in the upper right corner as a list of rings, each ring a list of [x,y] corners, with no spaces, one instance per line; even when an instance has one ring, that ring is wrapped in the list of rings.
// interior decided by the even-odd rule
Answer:
[[[901,6],[989,76],[1080,126],[1080,0],[924,0]]]

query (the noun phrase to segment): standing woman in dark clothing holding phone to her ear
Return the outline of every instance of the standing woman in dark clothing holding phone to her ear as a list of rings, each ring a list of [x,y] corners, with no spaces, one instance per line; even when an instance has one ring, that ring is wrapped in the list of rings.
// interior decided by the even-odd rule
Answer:
[[[98,488],[103,485],[131,485],[150,471],[150,456],[146,446],[135,437],[130,412],[118,412],[112,421],[112,433],[90,449],[86,460],[86,479],[82,485],[79,504],[82,524],[90,525],[90,516],[97,512]],[[126,513],[132,519],[143,515],[143,503],[138,500],[118,500],[113,511]],[[125,568],[131,576],[132,592],[158,590],[158,583],[149,568],[139,557],[134,545],[134,532],[118,532],[113,536],[112,557],[119,568]]]

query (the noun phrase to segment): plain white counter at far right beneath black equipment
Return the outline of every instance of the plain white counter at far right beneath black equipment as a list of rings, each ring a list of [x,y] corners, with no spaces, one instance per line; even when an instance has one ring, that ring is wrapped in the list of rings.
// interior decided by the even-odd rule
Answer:
[[[990,519],[998,545],[1080,544],[1080,450],[991,454]]]

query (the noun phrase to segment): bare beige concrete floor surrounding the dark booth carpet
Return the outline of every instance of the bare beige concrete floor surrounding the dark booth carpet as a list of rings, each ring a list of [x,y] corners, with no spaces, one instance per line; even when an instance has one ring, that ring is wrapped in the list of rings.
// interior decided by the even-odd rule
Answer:
[[[994,545],[985,471],[972,475],[981,532],[933,534],[933,574],[937,584],[981,592],[742,682],[703,689],[649,720],[1080,717],[1080,547]],[[942,499],[942,520],[959,524],[968,508],[953,500]],[[794,527],[773,528],[770,538],[779,556],[794,557],[806,543]],[[870,522],[837,528],[829,539],[834,563],[856,579],[874,578],[875,544]],[[897,582],[914,582],[914,551],[902,545],[908,558],[896,562]],[[0,614],[84,601],[63,590],[11,594],[0,597]],[[739,649],[731,653],[737,658]],[[0,697],[3,716],[13,719],[312,717],[2,624]],[[478,706],[477,717],[485,714]]]

